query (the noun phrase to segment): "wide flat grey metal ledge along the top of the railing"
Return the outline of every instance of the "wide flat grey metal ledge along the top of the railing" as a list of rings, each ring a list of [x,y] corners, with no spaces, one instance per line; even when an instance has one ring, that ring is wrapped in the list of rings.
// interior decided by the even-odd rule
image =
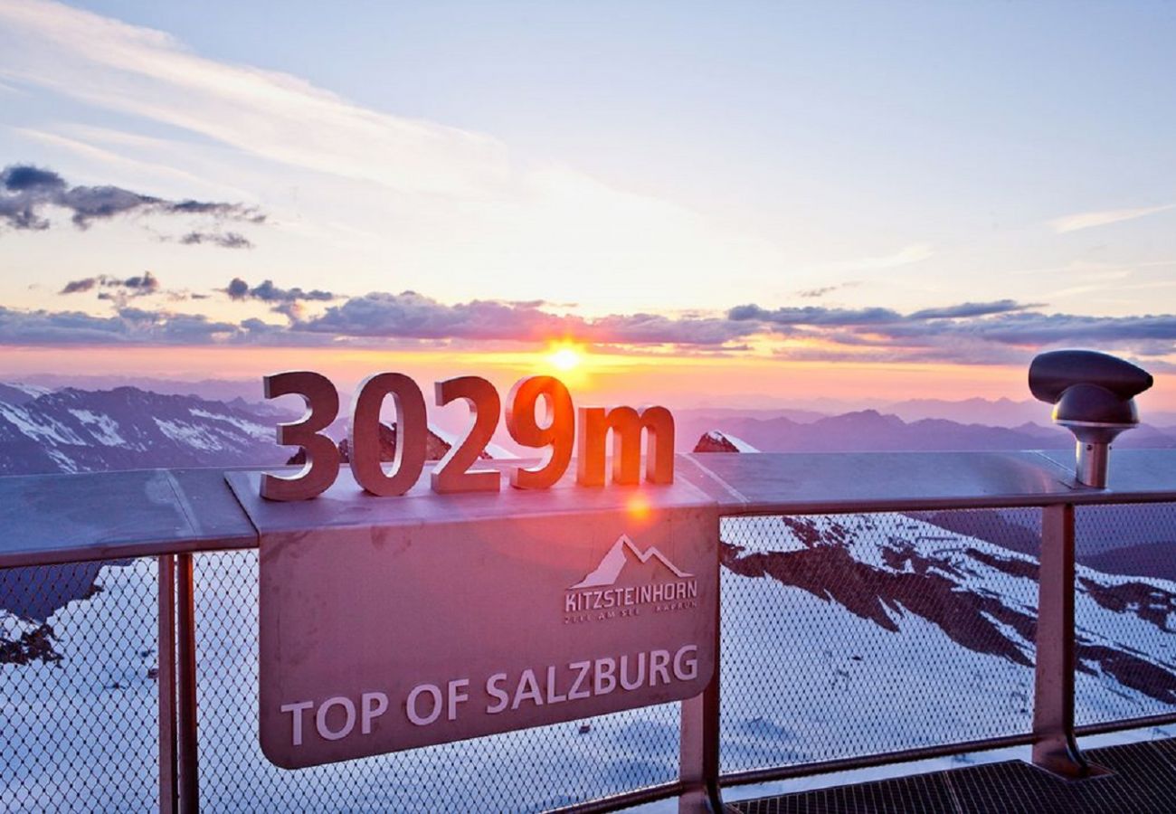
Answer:
[[[517,461],[499,462],[497,467]],[[1074,479],[1068,453],[707,453],[677,456],[677,476],[724,515],[1176,501],[1176,451],[1116,451],[1110,488]],[[143,469],[0,478],[0,567],[253,548],[258,533],[226,469]],[[426,476],[427,478],[426,473]],[[427,480],[410,495],[430,495]],[[341,479],[342,482],[343,479]],[[550,511],[654,495],[664,487],[429,496],[454,511]],[[676,487],[675,487],[676,488]],[[387,501],[414,498],[373,499]],[[402,505],[406,509],[408,503]],[[276,508],[276,507],[275,507]],[[294,514],[306,514],[307,509]],[[314,512],[312,512],[314,514]]]

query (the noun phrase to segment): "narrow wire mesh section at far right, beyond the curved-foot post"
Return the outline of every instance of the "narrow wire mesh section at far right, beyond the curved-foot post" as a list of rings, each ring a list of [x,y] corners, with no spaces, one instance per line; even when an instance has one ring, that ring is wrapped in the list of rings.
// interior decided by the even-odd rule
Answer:
[[[1075,508],[1075,722],[1176,710],[1176,505]]]

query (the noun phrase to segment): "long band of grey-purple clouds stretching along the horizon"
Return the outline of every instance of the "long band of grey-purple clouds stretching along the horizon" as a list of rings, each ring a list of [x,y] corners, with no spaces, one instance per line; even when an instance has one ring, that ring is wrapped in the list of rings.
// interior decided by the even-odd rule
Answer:
[[[87,278],[62,293],[112,286],[134,292],[158,287],[142,278]],[[341,298],[326,291],[250,286],[238,278],[220,289],[233,300],[267,303],[286,325],[239,323],[192,314],[148,311],[120,302],[112,316],[80,312],[21,312],[0,307],[0,343],[239,343],[381,347],[419,341],[541,342],[572,338],[600,345],[731,353],[757,335],[814,340],[782,345],[782,358],[867,359],[906,362],[1023,363],[1044,347],[1088,346],[1137,356],[1176,353],[1176,315],[1078,316],[1044,314],[1013,300],[962,302],[909,314],[889,308],[764,308],[748,303],[722,315],[612,314],[586,319],[544,311],[543,301],[472,300],[447,305],[416,292]],[[101,296],[101,293],[100,293]],[[302,303],[329,302],[303,316]]]

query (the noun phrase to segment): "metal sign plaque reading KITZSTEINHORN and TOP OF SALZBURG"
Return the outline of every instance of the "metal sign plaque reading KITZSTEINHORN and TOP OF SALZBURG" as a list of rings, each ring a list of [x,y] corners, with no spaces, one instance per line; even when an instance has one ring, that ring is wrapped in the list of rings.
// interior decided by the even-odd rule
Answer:
[[[261,532],[260,734],[278,766],[683,700],[714,674],[717,509],[688,485],[396,508],[343,487],[290,518],[229,478]]]

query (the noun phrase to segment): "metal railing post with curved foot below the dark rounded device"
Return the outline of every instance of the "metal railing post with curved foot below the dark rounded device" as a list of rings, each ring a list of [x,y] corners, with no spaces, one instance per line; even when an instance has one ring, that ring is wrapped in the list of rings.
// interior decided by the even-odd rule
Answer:
[[[1074,506],[1047,506],[1037,578],[1033,762],[1063,778],[1101,774],[1074,740]]]

